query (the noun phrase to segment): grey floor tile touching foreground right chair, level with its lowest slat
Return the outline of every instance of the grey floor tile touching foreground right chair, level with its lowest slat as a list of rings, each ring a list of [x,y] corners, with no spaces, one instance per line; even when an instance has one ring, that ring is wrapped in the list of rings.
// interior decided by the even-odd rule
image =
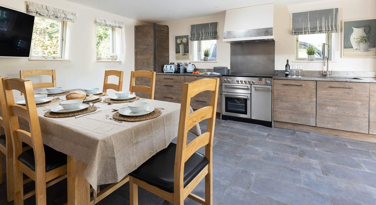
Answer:
[[[260,158],[262,154],[262,149],[260,148],[255,148],[247,145],[239,145],[224,140],[218,140],[218,142],[215,143],[214,148],[223,149],[229,152],[235,152],[237,154],[253,158]]]

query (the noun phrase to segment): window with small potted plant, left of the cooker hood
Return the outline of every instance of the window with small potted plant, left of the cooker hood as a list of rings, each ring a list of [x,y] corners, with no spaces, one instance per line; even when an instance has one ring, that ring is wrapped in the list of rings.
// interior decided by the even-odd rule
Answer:
[[[217,61],[217,40],[193,41],[194,61],[203,61],[206,49],[209,50],[208,61]]]

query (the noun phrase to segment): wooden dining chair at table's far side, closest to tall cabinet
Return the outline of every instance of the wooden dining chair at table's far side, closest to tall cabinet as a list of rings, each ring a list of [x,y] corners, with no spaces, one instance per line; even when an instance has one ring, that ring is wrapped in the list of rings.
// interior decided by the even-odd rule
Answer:
[[[130,71],[130,84],[129,91],[134,92],[143,92],[149,94],[150,99],[154,99],[154,90],[155,90],[155,74],[154,71]],[[147,77],[150,78],[150,87],[135,85],[136,77]]]

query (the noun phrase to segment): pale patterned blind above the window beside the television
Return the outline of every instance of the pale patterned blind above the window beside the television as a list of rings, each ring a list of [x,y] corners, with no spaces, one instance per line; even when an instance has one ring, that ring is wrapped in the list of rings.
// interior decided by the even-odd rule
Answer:
[[[34,2],[26,2],[26,5],[27,14],[33,16],[48,17],[70,22],[74,22],[74,20],[76,20],[75,12],[45,6]]]

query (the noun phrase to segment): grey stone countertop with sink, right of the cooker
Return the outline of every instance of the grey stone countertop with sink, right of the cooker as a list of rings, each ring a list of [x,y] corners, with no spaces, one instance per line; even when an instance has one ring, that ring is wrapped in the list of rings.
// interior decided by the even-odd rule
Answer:
[[[338,76],[302,76],[301,78],[287,78],[284,75],[274,75],[277,80],[316,80],[316,81],[338,81],[338,82],[356,82],[356,83],[376,83],[376,78],[369,77],[338,77]]]

